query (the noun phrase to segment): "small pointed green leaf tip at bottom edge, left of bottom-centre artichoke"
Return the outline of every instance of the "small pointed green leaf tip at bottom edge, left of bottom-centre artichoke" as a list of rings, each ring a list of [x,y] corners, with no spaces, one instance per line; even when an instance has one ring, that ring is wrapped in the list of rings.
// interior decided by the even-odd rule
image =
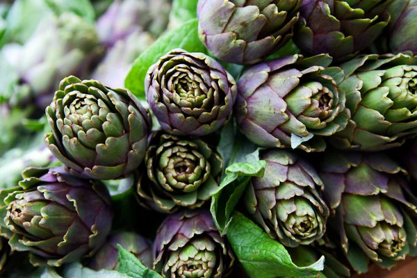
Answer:
[[[135,255],[127,252],[119,244],[117,245],[117,259],[120,261],[119,272],[133,278],[162,278],[158,272],[150,270],[140,263]]]

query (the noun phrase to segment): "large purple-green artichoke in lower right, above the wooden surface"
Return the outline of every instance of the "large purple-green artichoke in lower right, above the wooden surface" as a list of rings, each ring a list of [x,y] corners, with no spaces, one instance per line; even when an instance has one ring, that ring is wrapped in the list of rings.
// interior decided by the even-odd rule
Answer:
[[[382,153],[325,152],[319,175],[332,210],[328,225],[352,266],[363,259],[389,268],[416,248],[417,198],[405,171]]]

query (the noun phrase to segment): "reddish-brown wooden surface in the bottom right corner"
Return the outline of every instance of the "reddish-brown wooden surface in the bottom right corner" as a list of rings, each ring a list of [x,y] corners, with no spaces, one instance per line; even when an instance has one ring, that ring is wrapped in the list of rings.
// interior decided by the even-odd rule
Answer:
[[[409,257],[400,261],[391,270],[372,265],[368,273],[354,275],[352,278],[417,278],[417,258]]]

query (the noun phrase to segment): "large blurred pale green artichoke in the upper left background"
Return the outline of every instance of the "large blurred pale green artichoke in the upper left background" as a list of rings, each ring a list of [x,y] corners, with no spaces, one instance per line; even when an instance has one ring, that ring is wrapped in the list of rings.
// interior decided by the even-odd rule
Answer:
[[[20,81],[2,92],[4,97],[19,95],[17,102],[32,97],[43,110],[56,84],[69,74],[85,76],[103,49],[92,24],[73,13],[63,13],[45,17],[24,45],[7,44],[1,51]]]

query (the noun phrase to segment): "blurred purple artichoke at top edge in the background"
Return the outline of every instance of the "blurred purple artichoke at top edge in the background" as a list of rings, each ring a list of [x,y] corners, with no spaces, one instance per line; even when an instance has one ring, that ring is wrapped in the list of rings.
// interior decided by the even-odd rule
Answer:
[[[115,0],[97,19],[99,38],[106,47],[113,47],[134,32],[161,35],[167,28],[170,10],[170,0]]]

